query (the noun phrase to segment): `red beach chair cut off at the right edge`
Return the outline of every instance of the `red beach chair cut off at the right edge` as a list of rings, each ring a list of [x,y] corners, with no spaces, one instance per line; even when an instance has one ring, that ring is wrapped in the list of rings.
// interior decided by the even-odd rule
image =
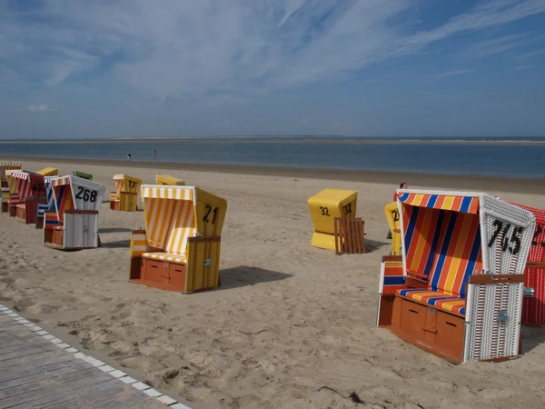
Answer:
[[[524,272],[524,301],[522,303],[522,324],[545,325],[545,210],[517,205],[536,217],[528,263]]]

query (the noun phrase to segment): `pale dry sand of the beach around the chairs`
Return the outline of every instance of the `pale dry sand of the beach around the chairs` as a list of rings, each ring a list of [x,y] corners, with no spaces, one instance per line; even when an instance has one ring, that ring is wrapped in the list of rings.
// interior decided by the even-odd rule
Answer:
[[[108,191],[114,189],[112,175],[124,171],[65,160],[25,161],[24,167],[55,163],[61,175],[74,168],[92,173]],[[154,183],[162,171],[134,166],[126,172],[144,183]],[[43,247],[43,231],[2,214],[0,302],[195,408],[512,408],[545,402],[541,328],[523,329],[525,354],[518,360],[464,365],[375,328],[381,256],[390,252],[383,206],[394,185],[285,172],[168,173],[228,201],[222,287],[174,294],[127,283],[130,232],[143,226],[143,215],[112,212],[104,204],[104,247],[74,253]],[[419,187],[441,187],[438,180],[419,176]],[[545,208],[538,183],[449,180],[451,188],[472,186]],[[336,256],[309,245],[306,200],[326,187],[358,191],[372,253]],[[352,392],[361,404],[352,402]]]

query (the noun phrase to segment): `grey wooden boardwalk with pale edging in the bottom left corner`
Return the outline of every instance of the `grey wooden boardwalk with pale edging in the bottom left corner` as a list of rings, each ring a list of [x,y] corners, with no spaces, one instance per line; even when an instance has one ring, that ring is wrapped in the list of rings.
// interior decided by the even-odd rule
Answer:
[[[0,408],[189,409],[0,305]]]

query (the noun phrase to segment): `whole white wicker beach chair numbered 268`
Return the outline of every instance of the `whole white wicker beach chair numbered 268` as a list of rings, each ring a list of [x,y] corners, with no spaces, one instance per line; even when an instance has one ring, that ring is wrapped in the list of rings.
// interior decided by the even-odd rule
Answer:
[[[59,250],[100,246],[98,213],[106,188],[74,175],[51,182],[54,211],[45,211],[44,245]]]

